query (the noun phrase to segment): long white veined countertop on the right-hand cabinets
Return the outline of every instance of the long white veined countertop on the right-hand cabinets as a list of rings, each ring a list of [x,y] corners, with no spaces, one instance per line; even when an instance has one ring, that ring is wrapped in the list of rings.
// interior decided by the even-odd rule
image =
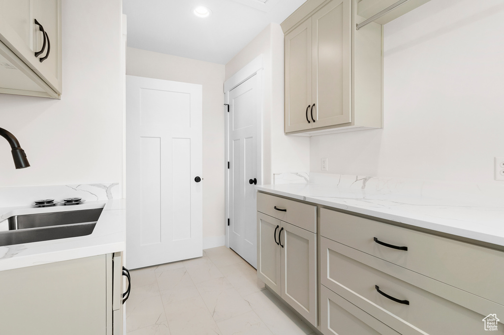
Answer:
[[[455,198],[356,192],[334,185],[256,186],[263,192],[504,246],[504,199],[472,206]]]

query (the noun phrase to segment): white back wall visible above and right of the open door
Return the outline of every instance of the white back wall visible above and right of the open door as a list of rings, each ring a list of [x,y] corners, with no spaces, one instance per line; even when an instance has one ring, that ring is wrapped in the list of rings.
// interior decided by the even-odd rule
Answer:
[[[203,239],[223,245],[224,65],[127,48],[126,74],[203,85]]]

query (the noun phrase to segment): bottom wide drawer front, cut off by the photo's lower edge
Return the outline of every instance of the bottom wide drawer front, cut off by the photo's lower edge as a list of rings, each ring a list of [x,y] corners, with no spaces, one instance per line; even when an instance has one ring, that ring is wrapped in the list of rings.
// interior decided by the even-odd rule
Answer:
[[[321,285],[324,335],[399,335],[397,331]]]

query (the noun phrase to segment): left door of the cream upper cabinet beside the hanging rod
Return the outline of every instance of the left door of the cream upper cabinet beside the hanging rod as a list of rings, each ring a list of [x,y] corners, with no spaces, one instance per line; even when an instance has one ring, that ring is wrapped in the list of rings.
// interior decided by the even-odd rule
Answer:
[[[311,19],[285,36],[285,132],[310,129]]]

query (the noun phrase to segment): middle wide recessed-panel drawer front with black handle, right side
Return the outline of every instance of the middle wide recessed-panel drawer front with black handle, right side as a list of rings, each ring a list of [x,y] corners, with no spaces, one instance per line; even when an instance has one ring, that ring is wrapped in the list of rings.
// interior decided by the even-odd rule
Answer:
[[[323,270],[327,276],[322,277],[322,284],[336,293],[345,292],[347,299],[350,296],[350,302],[398,332],[443,335],[485,333],[483,318],[486,315],[335,252],[331,243],[337,242],[321,238],[321,263],[327,266]],[[489,310],[490,313],[495,312]],[[494,333],[504,334],[504,324],[499,323],[498,331]]]

